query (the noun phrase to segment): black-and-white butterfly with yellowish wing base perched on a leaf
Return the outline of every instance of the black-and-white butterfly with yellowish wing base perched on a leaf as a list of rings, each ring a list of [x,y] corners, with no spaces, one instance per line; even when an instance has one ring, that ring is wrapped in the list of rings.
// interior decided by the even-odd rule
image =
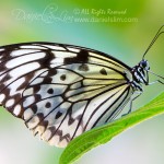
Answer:
[[[109,55],[79,46],[2,46],[0,103],[42,140],[63,148],[83,132],[114,120],[127,103],[132,106],[143,92],[142,84],[150,84],[145,54],[131,68]]]

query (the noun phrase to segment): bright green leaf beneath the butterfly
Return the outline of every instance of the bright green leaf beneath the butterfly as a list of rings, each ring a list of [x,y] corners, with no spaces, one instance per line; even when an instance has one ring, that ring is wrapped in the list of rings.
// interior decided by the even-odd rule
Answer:
[[[164,113],[164,92],[140,109],[108,125],[90,130],[72,140],[60,157],[60,164],[70,164],[91,149],[104,144],[124,130]]]

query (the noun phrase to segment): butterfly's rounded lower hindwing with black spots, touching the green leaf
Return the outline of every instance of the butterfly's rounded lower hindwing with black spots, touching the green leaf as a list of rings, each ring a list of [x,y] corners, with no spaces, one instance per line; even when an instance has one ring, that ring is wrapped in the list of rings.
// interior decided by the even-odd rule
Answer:
[[[81,70],[81,67],[82,63],[69,63],[45,71],[23,93],[27,127],[52,145],[66,147],[74,137],[95,127],[97,119],[97,125],[107,122],[107,117],[104,117],[106,107],[110,106],[107,116],[114,117],[116,106],[113,107],[113,103],[116,97],[119,103],[119,99],[130,96],[127,92],[129,86],[121,75],[117,80],[101,78],[99,71],[97,74],[101,67],[85,63],[91,70],[87,73],[87,69]]]

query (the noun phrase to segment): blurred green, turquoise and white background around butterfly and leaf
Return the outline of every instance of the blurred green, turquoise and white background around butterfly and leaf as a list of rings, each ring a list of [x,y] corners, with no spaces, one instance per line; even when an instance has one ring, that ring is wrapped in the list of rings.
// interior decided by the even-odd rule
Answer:
[[[129,66],[137,65],[164,24],[162,0],[47,0],[0,2],[0,45],[54,42],[110,54]],[[151,70],[163,75],[164,36],[147,55]],[[155,78],[151,75],[151,80]],[[138,108],[162,92],[161,84],[145,87],[133,103]],[[89,152],[77,164],[163,164],[164,116],[122,132],[112,142]],[[38,141],[0,108],[1,164],[58,164],[62,149]]]

